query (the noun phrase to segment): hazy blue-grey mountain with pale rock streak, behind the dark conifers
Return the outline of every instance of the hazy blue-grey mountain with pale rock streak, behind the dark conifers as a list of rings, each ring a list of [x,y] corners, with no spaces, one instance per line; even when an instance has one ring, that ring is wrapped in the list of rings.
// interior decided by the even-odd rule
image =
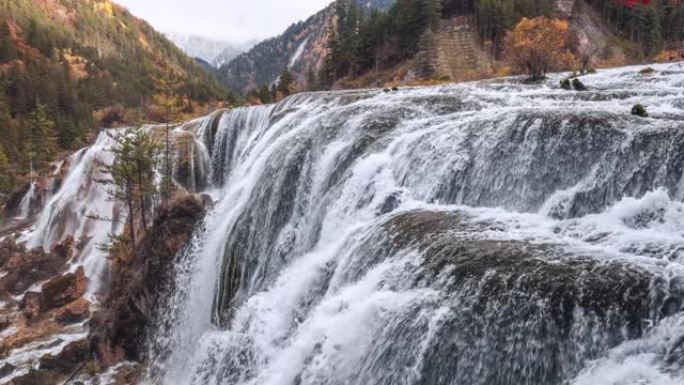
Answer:
[[[367,9],[387,10],[395,0],[359,0]],[[235,92],[244,93],[276,80],[289,68],[300,83],[317,71],[326,53],[328,27],[335,3],[304,21],[292,24],[281,35],[265,40],[220,68],[219,79]]]

